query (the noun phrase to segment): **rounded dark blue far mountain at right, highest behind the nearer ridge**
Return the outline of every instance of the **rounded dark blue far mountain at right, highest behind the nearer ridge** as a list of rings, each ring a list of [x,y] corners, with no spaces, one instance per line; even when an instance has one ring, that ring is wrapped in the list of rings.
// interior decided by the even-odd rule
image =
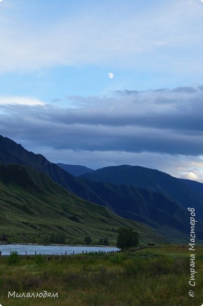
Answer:
[[[111,166],[83,174],[88,180],[94,182],[107,182],[115,185],[135,186],[152,192],[158,192],[179,203],[185,209],[193,207],[199,219],[203,220],[203,199],[199,196],[197,188],[192,183],[177,179],[167,173],[140,166]],[[199,183],[200,184],[200,183]],[[202,184],[201,184],[202,185]],[[199,190],[202,188],[200,186]]]

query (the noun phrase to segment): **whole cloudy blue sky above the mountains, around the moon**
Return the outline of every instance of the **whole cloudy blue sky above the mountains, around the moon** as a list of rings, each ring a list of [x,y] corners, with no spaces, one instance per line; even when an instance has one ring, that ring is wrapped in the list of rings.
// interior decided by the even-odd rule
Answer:
[[[203,182],[202,33],[200,0],[3,0],[0,134]]]

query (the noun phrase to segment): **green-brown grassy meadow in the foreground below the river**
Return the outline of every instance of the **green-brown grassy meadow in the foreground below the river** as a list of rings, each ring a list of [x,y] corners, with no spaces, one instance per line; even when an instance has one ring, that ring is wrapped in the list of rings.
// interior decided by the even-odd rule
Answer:
[[[136,252],[0,259],[2,305],[199,306],[203,302],[203,247],[195,251],[196,286],[190,279],[188,246]],[[189,290],[195,297],[188,295]],[[58,292],[58,298],[8,298],[8,292]]]

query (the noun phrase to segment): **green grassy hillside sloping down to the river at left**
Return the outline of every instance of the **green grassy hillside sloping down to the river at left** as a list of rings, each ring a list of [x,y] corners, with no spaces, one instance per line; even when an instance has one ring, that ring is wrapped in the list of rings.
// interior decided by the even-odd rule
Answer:
[[[65,235],[66,243],[82,243],[89,235],[94,243],[107,237],[115,245],[120,226],[134,228],[142,242],[166,241],[139,222],[85,201],[27,166],[0,165],[0,206],[0,234],[9,242],[48,243],[53,235],[58,239]]]

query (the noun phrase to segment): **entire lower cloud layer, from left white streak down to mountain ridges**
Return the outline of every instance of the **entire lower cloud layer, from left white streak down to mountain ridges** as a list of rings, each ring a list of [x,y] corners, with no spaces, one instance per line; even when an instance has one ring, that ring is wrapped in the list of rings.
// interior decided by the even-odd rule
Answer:
[[[65,107],[67,98],[56,106],[0,97],[0,129],[52,161],[138,164],[203,180],[202,98],[199,87],[71,96],[72,108]]]

